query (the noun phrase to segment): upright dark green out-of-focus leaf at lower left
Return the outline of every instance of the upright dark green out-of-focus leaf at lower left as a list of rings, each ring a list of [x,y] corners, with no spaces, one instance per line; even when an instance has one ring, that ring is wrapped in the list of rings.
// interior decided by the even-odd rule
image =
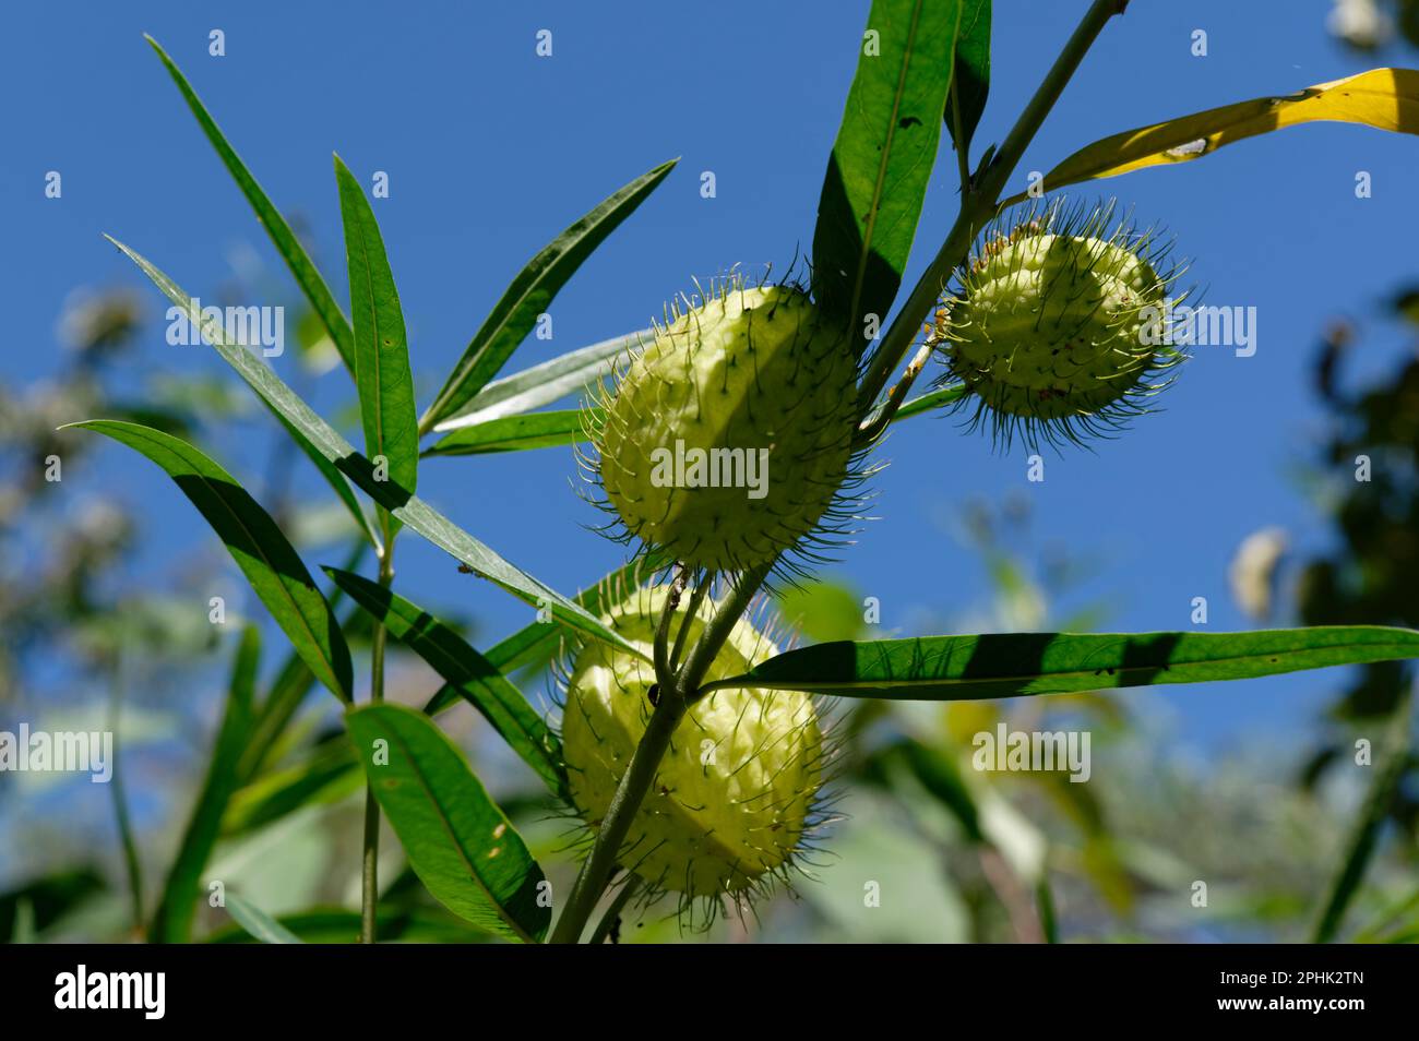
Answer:
[[[217,740],[207,763],[207,776],[197,794],[187,828],[183,831],[177,857],[167,872],[162,901],[148,932],[150,943],[187,943],[192,922],[201,892],[201,872],[211,857],[221,831],[221,817],[240,784],[237,763],[251,732],[255,698],[257,667],[261,659],[261,634],[254,625],[241,631],[231,682],[227,688],[227,709],[221,716]]]

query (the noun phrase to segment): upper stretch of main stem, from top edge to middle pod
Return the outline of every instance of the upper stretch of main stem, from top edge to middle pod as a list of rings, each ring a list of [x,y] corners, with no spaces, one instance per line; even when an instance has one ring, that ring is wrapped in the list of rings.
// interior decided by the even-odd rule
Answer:
[[[911,291],[895,321],[887,329],[887,335],[883,336],[881,346],[868,363],[867,374],[863,377],[863,386],[858,391],[860,411],[864,417],[870,414],[877,396],[881,394],[883,387],[887,386],[887,380],[891,379],[897,366],[901,364],[908,347],[911,347],[912,340],[917,338],[917,330],[927,321],[942,289],[951,279],[951,274],[965,262],[971,243],[975,241],[976,233],[979,233],[985,221],[995,213],[1000,190],[1015,172],[1015,166],[1025,155],[1025,149],[1034,139],[1044,118],[1054,108],[1054,102],[1064,92],[1064,87],[1069,84],[1070,77],[1074,75],[1074,69],[1078,68],[1108,20],[1115,14],[1122,14],[1127,6],[1128,0],[1094,0],[1080,21],[1078,28],[1074,30],[1069,43],[1064,44],[1060,57],[1054,60],[1050,71],[1044,74],[1044,79],[1040,82],[1034,96],[1030,98],[1029,105],[1025,106],[1010,133],[1006,135],[1005,143],[995,153],[989,167],[976,176],[979,182],[976,189],[962,197],[961,211],[956,214],[956,223],[951,226],[951,231],[946,234],[946,241],[941,245],[941,250],[937,252],[935,260],[931,261],[921,281]]]

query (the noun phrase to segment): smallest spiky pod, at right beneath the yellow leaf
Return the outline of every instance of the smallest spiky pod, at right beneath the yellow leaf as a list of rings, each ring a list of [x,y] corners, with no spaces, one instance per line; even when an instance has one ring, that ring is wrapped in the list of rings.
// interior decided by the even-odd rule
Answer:
[[[1164,336],[1176,271],[1159,260],[1151,233],[1115,223],[1112,206],[992,230],[937,315],[949,377],[1006,438],[1118,427],[1182,360]]]

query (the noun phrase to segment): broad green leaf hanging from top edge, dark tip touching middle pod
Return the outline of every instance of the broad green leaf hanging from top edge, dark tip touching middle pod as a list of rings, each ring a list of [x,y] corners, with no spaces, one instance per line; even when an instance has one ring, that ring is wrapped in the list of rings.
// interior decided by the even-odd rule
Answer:
[[[962,0],[873,0],[813,231],[813,288],[844,323],[885,319],[941,142]]]

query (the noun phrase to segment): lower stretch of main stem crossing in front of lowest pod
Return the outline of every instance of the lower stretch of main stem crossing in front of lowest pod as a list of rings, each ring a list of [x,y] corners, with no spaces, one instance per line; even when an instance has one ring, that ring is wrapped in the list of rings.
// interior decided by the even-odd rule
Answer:
[[[775,560],[776,557],[739,576],[724,603],[719,604],[714,618],[700,634],[700,640],[690,650],[684,668],[680,669],[668,688],[660,691],[660,701],[646,725],[646,733],[641,736],[640,745],[636,746],[636,753],[631,756],[626,773],[622,774],[620,784],[616,786],[616,794],[612,796],[606,815],[602,818],[592,852],[582,864],[566,908],[552,930],[552,943],[576,943],[580,939],[586,922],[600,902],[602,894],[606,892],[606,884],[616,867],[622,842],[626,841],[626,833],[630,831],[630,824],[636,818],[640,804],[646,800],[646,793],[656,781],[656,770],[670,747],[675,728],[694,703],[700,682],[710,671],[710,665],[719,654],[725,640],[729,638],[735,623],[749,608],[759,586],[773,570]]]

